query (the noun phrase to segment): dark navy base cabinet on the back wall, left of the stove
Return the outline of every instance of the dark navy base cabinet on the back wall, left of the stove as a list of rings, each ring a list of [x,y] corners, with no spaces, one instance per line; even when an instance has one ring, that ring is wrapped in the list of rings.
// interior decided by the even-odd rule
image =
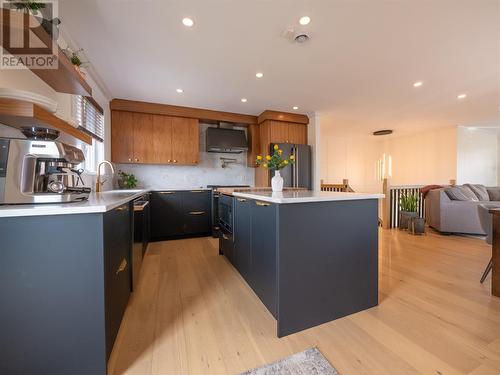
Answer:
[[[154,191],[150,202],[151,240],[210,235],[210,191]]]

